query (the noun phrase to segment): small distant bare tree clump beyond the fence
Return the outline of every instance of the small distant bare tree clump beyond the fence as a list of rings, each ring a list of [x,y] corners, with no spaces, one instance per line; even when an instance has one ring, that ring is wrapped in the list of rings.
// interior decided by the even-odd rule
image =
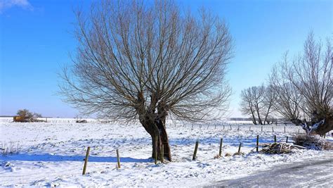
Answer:
[[[240,111],[244,115],[251,115],[254,125],[269,123],[268,116],[273,112],[275,94],[270,87],[249,87],[241,92]],[[263,118],[263,119],[262,119]]]

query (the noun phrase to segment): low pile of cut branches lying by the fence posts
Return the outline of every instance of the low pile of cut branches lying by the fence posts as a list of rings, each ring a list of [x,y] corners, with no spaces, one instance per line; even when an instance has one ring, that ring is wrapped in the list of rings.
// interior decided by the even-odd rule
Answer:
[[[306,149],[306,148],[294,144],[273,143],[273,144],[263,144],[262,149],[259,152],[266,154],[291,153],[292,149]]]

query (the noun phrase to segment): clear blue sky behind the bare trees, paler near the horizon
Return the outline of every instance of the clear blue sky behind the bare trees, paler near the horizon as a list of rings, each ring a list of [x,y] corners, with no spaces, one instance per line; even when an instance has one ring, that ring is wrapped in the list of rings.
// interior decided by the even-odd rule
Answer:
[[[289,50],[302,50],[308,32],[333,37],[333,1],[177,1],[193,12],[205,6],[224,18],[235,41],[228,79],[233,87],[230,110],[238,109],[240,91],[266,81],[270,68]],[[60,68],[71,63],[77,5],[88,1],[0,0],[0,115],[20,108],[44,116],[68,117],[77,111],[60,100]]]

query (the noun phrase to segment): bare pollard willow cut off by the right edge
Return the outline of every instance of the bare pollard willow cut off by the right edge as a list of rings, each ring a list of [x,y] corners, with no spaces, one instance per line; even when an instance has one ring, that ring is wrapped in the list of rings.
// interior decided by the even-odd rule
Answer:
[[[304,43],[303,54],[273,68],[270,84],[277,93],[277,111],[306,134],[323,135],[333,130],[333,56],[327,39],[325,48],[313,32]]]

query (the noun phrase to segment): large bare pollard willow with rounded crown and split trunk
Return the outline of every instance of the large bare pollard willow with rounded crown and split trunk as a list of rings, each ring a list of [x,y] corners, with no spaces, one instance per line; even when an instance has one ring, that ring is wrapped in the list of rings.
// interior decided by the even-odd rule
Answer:
[[[76,56],[60,91],[81,112],[138,119],[152,157],[171,161],[168,115],[196,121],[226,111],[233,45],[218,17],[181,13],[173,1],[102,1],[76,15]]]

